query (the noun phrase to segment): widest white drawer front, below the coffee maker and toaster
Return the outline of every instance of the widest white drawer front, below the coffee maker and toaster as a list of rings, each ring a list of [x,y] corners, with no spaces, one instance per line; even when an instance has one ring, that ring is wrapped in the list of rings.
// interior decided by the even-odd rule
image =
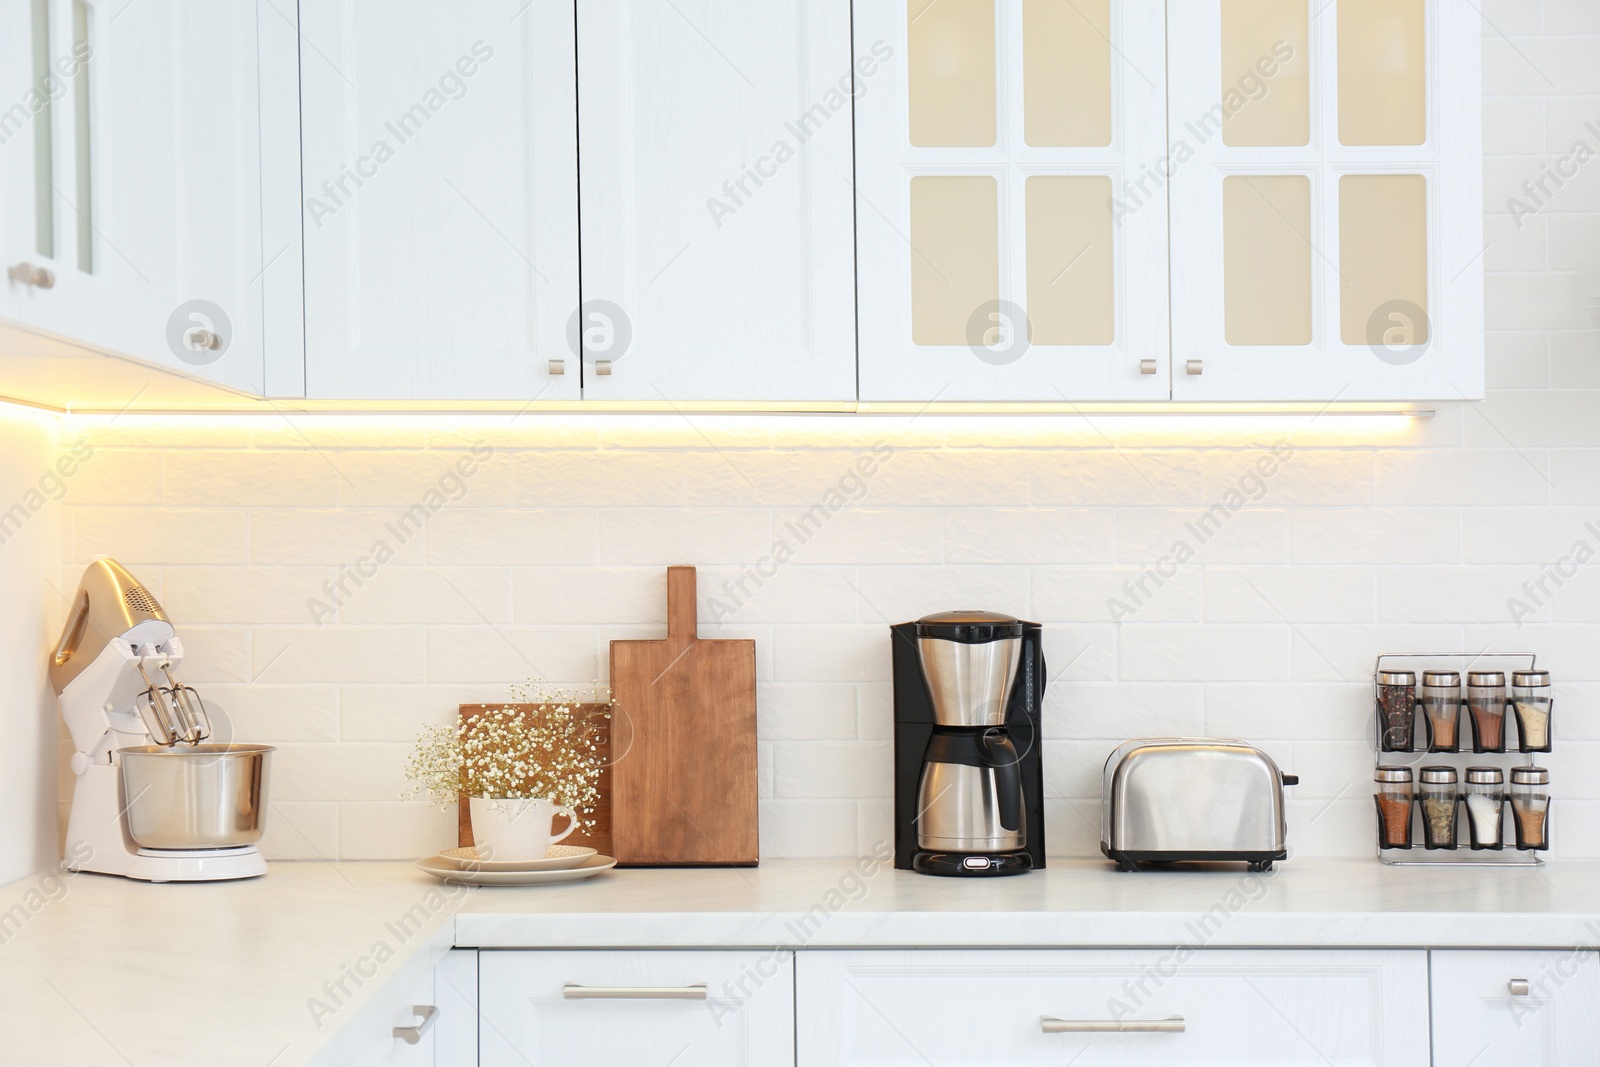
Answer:
[[[803,1067],[1429,1056],[1421,950],[805,952],[797,990]]]

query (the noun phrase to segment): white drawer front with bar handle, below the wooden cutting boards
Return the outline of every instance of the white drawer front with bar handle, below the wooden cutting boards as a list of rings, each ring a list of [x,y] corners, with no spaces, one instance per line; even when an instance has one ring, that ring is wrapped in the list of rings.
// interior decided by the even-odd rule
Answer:
[[[483,1067],[795,1062],[790,952],[485,950],[478,989]]]

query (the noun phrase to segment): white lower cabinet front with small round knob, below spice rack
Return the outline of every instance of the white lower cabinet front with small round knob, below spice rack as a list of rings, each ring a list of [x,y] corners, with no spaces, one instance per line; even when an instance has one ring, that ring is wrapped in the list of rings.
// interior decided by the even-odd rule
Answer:
[[[1592,950],[1440,950],[1432,965],[1434,1067],[1600,1064]]]

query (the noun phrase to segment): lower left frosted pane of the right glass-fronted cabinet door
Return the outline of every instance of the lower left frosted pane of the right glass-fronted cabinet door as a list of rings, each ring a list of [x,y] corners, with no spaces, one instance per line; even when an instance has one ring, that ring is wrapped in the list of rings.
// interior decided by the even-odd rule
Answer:
[[[1227,342],[1310,344],[1310,179],[1222,181]]]

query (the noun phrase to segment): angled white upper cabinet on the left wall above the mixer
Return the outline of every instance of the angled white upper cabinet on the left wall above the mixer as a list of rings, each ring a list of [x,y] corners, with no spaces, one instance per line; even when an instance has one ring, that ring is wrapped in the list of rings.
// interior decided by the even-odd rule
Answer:
[[[299,347],[293,331],[269,341],[267,312],[286,299],[275,322],[296,314],[298,226],[264,214],[283,189],[275,122],[294,101],[280,77],[293,6],[286,16],[266,0],[6,8],[6,101],[21,102],[0,123],[0,312],[261,394],[269,342]],[[288,19],[288,34],[272,19]],[[11,96],[18,62],[26,88]]]

